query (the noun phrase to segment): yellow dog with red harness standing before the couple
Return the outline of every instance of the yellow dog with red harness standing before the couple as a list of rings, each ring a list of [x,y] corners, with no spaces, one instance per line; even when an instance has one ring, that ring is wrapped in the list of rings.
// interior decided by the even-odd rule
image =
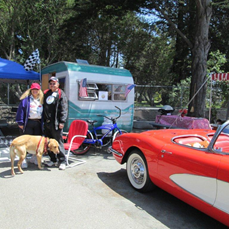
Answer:
[[[34,135],[22,135],[20,137],[15,138],[10,145],[10,159],[11,159],[11,175],[14,176],[14,159],[16,155],[19,157],[18,161],[18,169],[19,172],[23,173],[21,168],[22,161],[26,157],[26,153],[36,154],[37,155],[37,163],[38,168],[41,167],[41,159],[43,153],[47,150],[52,151],[53,153],[59,153],[59,143],[52,138],[45,138],[42,136],[34,136]]]

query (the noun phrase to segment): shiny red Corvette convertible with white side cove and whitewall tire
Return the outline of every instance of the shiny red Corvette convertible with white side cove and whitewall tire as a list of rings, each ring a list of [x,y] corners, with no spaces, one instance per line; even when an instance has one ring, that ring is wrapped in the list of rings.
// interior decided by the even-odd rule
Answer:
[[[229,121],[215,130],[128,133],[109,148],[140,192],[158,186],[229,226]]]

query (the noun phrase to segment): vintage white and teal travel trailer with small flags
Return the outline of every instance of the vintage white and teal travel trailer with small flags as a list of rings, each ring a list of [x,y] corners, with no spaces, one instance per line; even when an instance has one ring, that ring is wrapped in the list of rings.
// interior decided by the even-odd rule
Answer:
[[[97,120],[96,126],[107,122],[103,117],[116,117],[118,106],[122,110],[117,120],[118,126],[128,132],[133,127],[134,88],[125,96],[128,85],[133,84],[133,77],[126,69],[102,67],[61,61],[51,64],[41,71],[42,89],[48,88],[51,76],[59,79],[60,88],[68,97],[69,114],[66,129],[75,119]],[[87,96],[80,96],[80,82],[86,78]]]

